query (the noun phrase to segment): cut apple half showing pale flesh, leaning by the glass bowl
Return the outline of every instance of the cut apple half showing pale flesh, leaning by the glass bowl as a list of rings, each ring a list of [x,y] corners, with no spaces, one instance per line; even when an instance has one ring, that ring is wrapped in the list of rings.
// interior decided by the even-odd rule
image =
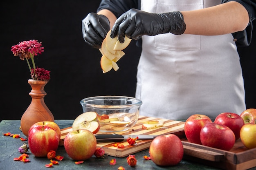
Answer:
[[[72,130],[87,129],[93,134],[99,132],[100,125],[96,112],[85,112],[76,117],[72,124]]]

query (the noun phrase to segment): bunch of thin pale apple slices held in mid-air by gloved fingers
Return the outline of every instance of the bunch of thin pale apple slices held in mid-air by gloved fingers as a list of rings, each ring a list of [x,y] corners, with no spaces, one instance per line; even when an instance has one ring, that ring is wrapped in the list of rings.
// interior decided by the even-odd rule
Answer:
[[[111,38],[110,33],[111,30],[108,31],[106,38],[101,44],[101,49],[99,49],[102,54],[101,69],[103,73],[107,73],[112,68],[114,68],[115,71],[119,69],[117,61],[124,56],[125,53],[122,50],[125,49],[132,40],[125,36],[124,43],[120,43],[117,37]]]

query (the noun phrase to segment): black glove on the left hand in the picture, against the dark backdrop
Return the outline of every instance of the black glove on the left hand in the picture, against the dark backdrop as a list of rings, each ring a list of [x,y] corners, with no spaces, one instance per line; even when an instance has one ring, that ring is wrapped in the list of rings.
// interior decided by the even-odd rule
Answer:
[[[89,13],[82,21],[83,39],[93,48],[100,49],[110,30],[110,22],[104,15]]]

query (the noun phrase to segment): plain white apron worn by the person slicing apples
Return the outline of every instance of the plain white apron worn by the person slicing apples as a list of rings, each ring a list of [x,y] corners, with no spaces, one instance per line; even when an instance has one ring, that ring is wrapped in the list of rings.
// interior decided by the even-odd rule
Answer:
[[[216,4],[220,0],[141,0],[141,10],[164,13]],[[136,97],[143,102],[141,115],[150,117],[215,119],[223,112],[242,113],[245,91],[233,36],[143,36]]]

